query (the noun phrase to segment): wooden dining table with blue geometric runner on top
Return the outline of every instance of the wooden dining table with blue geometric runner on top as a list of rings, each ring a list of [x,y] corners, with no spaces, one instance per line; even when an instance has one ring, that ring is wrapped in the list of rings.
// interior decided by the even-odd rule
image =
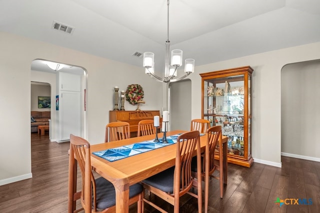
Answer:
[[[186,131],[175,130],[167,132],[166,135],[176,135],[183,132]],[[162,133],[158,134],[158,138],[161,137]],[[164,146],[113,162],[104,160],[92,153],[142,141],[153,140],[154,138],[155,135],[148,135],[90,146],[92,169],[100,176],[110,181],[114,186],[116,196],[116,213],[128,212],[129,186],[139,183],[140,181],[175,165],[176,146],[175,144]],[[207,137],[205,135],[200,136],[201,151],[205,150],[206,140]],[[223,159],[223,161],[220,161],[220,168],[223,168],[223,170],[220,171],[220,180],[223,180],[224,184],[227,183],[226,142],[227,138],[222,136],[220,145],[223,144],[223,146],[220,146],[219,157],[220,159]],[[221,147],[223,147],[223,149]]]

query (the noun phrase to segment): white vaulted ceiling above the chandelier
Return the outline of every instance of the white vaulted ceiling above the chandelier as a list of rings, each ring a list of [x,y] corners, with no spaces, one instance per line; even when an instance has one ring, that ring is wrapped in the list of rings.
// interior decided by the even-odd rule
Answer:
[[[195,65],[320,41],[320,0],[170,0],[169,9],[171,49]],[[136,66],[132,53],[151,51],[156,68],[166,16],[166,0],[0,0],[0,31]]]

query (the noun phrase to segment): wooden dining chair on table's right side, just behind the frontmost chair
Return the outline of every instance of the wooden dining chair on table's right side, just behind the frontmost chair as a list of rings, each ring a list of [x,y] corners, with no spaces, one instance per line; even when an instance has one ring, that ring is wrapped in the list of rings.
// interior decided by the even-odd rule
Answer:
[[[205,153],[204,157],[201,156],[201,179],[194,180],[193,185],[196,187],[197,181],[204,181],[204,212],[207,212],[208,209],[208,198],[209,198],[209,177],[220,179],[218,176],[213,176],[213,172],[219,167],[217,164],[214,163],[214,151],[215,147],[218,143],[218,140],[222,141],[222,133],[221,133],[221,126],[213,126],[210,127],[206,131],[207,140],[205,144]],[[222,159],[221,159],[222,161]],[[197,159],[195,157],[192,158],[191,162],[191,174],[192,177],[198,177],[198,165]],[[221,168],[222,169],[222,168]],[[220,198],[222,198],[223,192],[223,180],[220,180]]]

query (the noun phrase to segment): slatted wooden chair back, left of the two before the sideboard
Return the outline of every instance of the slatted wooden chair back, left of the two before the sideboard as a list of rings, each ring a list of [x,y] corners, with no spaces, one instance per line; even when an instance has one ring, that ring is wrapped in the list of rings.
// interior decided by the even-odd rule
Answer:
[[[105,126],[104,143],[130,138],[130,125],[127,122],[116,121]]]

